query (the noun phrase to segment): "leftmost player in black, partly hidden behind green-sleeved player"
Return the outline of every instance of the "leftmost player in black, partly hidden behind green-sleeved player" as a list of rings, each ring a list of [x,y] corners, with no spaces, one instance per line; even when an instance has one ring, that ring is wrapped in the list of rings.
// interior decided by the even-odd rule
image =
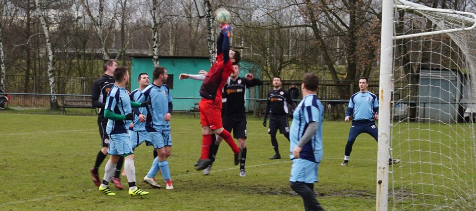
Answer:
[[[117,67],[118,63],[116,60],[105,60],[103,63],[103,76],[97,79],[92,85],[91,101],[93,107],[99,108],[97,124],[99,126],[99,135],[101,136],[102,141],[102,148],[96,156],[94,167],[91,168],[91,176],[93,178],[92,180],[97,186],[101,185],[102,181],[99,179],[98,168],[104,161],[104,158],[106,158],[108,155],[109,149],[109,137],[106,133],[108,119],[104,118],[104,106],[106,105],[106,96],[108,95],[109,90],[114,86],[114,70],[116,70]],[[115,177],[112,180],[116,187],[121,190],[122,185],[120,184],[119,175],[123,161],[124,157],[120,156],[118,165],[116,167]]]

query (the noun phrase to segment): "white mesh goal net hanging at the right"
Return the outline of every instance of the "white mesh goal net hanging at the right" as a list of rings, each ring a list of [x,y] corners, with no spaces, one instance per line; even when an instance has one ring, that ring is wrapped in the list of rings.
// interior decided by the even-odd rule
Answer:
[[[475,25],[395,1],[389,210],[476,210]]]

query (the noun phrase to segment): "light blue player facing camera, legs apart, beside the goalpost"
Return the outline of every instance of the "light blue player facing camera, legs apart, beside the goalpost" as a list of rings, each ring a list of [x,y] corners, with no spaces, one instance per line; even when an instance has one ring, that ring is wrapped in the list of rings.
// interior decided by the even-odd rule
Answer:
[[[368,79],[360,77],[358,79],[359,92],[351,96],[349,107],[347,107],[345,120],[350,121],[352,116],[352,126],[349,130],[349,138],[347,139],[346,149],[344,153],[344,162],[341,166],[347,166],[351,157],[352,146],[361,133],[367,133],[372,136],[375,141],[378,140],[378,128],[375,120],[378,120],[379,102],[377,96],[367,90]],[[397,164],[400,160],[389,159],[389,164]]]

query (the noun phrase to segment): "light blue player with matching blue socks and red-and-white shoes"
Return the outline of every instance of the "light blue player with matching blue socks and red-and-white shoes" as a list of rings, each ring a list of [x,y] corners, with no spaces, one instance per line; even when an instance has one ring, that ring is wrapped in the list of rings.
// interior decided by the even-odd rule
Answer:
[[[173,189],[167,158],[172,153],[172,136],[170,135],[170,118],[172,113],[172,96],[164,83],[167,81],[167,70],[164,67],[156,67],[153,72],[153,82],[143,91],[143,96],[137,102],[150,101],[147,107],[146,130],[159,154],[154,159],[152,167],[147,173],[146,179],[152,179],[157,172],[161,171],[165,181],[165,188]],[[158,167],[159,166],[159,167]]]

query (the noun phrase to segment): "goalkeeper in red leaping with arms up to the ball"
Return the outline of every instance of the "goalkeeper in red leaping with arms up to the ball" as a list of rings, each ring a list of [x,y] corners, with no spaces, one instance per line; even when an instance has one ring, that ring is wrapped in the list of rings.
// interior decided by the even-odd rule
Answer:
[[[239,162],[239,148],[230,133],[223,129],[221,110],[223,86],[234,71],[233,65],[239,63],[241,56],[237,49],[230,49],[230,25],[221,25],[221,29],[217,39],[217,62],[208,71],[200,88],[201,100],[198,110],[200,110],[203,138],[201,156],[195,165],[196,170],[203,170],[212,162],[209,152],[214,134],[223,138],[230,145],[235,154],[235,165],[238,165]]]

